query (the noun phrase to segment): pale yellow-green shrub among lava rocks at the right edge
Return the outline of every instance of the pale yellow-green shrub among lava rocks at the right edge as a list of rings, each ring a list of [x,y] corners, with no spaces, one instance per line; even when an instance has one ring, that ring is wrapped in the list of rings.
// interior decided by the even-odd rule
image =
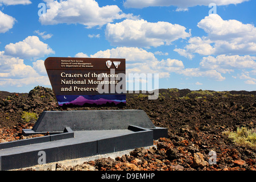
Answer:
[[[256,130],[247,129],[247,127],[237,127],[237,131],[225,131],[224,135],[232,139],[233,142],[256,149]]]

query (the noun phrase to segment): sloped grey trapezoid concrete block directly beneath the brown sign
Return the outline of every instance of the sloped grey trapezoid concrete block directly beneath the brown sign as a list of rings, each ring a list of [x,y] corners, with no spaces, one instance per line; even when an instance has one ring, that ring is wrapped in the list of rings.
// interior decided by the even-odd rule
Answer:
[[[143,110],[75,110],[43,111],[32,128],[35,132],[62,132],[65,127],[73,131],[119,130],[129,125],[155,128]]]

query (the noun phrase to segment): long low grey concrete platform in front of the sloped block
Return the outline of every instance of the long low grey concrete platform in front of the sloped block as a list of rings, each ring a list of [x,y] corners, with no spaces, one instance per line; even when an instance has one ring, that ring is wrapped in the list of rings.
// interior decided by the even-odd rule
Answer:
[[[46,163],[51,163],[151,146],[153,144],[152,133],[152,130],[131,131],[128,129],[75,131],[74,138],[3,148],[0,150],[0,169],[35,166],[39,164],[42,151],[46,154]]]

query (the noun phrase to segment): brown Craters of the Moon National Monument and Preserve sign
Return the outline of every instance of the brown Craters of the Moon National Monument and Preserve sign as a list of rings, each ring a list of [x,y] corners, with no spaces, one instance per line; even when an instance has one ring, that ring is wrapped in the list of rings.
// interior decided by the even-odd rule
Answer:
[[[125,59],[48,57],[44,61],[59,106],[125,106]]]

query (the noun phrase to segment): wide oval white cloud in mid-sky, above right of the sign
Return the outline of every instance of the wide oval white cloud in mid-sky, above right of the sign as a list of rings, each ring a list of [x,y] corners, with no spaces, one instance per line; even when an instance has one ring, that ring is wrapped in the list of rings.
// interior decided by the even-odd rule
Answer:
[[[185,30],[179,24],[126,19],[120,23],[108,23],[105,35],[113,46],[158,47],[191,36],[190,31]]]

